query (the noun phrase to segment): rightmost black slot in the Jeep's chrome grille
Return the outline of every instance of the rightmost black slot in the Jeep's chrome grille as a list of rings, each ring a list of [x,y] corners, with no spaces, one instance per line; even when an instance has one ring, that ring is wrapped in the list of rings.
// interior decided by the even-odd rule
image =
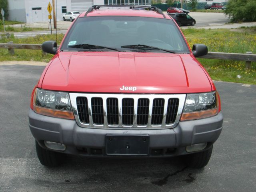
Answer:
[[[176,120],[177,112],[179,107],[178,98],[170,98],[168,100],[167,113],[166,113],[166,124],[172,124]]]

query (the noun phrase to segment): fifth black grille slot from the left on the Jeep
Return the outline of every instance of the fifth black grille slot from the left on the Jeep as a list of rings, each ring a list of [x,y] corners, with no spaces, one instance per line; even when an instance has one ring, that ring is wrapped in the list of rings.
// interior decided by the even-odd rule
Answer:
[[[140,98],[138,99],[137,107],[137,125],[148,124],[148,110],[149,110],[149,99]]]

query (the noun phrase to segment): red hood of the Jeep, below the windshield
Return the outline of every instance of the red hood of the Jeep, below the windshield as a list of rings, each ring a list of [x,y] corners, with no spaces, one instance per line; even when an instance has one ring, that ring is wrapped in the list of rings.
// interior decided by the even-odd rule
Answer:
[[[123,86],[136,90],[120,90]],[[69,92],[189,93],[212,91],[190,54],[59,52],[42,88]]]

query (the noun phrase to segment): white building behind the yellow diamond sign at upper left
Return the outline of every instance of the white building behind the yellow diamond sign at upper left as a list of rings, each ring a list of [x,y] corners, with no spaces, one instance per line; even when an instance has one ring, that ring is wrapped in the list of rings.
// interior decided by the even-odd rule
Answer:
[[[26,23],[48,22],[48,3],[52,0],[8,0],[9,20]],[[56,20],[62,20],[66,12],[84,12],[94,4],[102,5],[104,0],[55,0]],[[53,10],[51,12],[53,15]]]

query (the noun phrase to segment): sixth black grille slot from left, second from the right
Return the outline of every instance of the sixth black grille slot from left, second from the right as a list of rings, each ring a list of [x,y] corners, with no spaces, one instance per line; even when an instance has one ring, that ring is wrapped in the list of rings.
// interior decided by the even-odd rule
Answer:
[[[164,99],[156,98],[153,100],[153,108],[152,108],[152,125],[161,125],[164,116]]]

